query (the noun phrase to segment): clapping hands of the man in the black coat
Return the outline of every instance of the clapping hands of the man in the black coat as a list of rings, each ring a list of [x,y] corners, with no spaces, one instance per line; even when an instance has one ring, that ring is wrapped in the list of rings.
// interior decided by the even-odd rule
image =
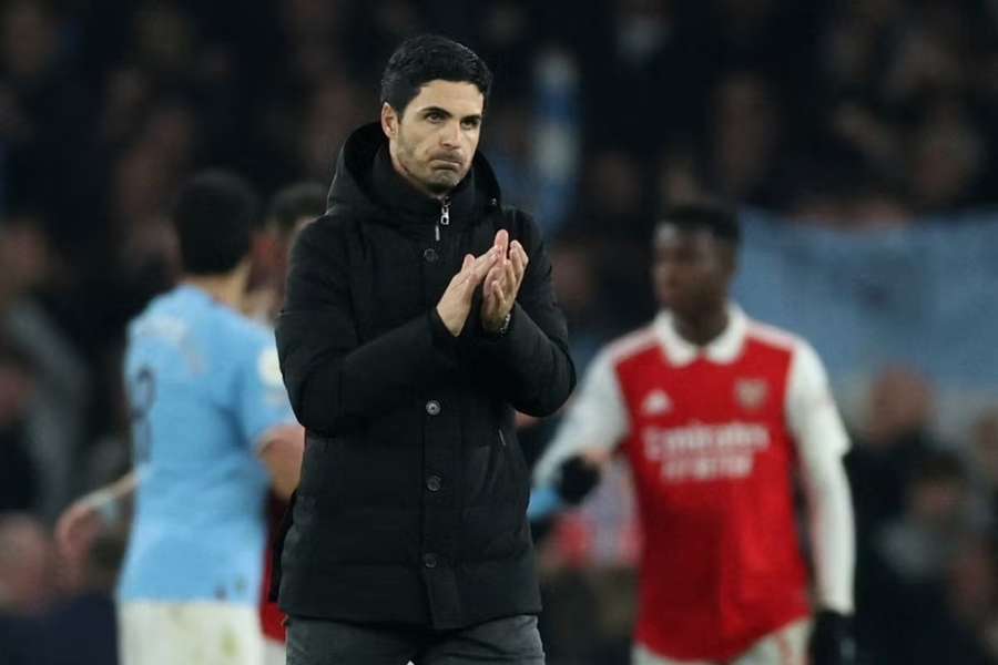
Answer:
[[[505,228],[496,233],[492,247],[481,256],[466,254],[461,269],[437,303],[437,314],[450,334],[457,337],[464,330],[479,285],[482,287],[481,326],[486,332],[498,332],[517,301],[527,260],[527,250],[518,241],[510,243]]]

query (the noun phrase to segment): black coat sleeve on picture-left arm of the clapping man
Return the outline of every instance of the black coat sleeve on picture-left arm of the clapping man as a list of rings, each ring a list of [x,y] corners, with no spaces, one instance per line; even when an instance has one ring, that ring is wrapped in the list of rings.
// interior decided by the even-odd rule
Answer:
[[[276,335],[295,416],[324,433],[384,415],[457,365],[435,308],[360,344],[345,231],[328,217],[295,244]]]

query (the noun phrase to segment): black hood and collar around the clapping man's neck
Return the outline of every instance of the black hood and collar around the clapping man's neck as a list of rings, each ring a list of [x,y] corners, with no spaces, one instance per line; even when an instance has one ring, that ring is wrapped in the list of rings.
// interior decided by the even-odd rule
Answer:
[[[336,160],[326,212],[374,217],[394,226],[430,224],[440,215],[440,202],[413,187],[391,166],[388,139],[377,122],[347,137]],[[450,193],[451,223],[478,218],[500,206],[499,182],[485,156],[477,152],[468,175]]]

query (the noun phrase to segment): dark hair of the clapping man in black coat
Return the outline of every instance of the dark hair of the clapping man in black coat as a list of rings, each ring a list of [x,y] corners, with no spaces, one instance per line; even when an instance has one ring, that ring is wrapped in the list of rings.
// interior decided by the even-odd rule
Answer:
[[[437,80],[473,83],[488,103],[488,65],[468,47],[439,34],[409,38],[395,50],[381,74],[381,102],[401,114],[420,88]]]

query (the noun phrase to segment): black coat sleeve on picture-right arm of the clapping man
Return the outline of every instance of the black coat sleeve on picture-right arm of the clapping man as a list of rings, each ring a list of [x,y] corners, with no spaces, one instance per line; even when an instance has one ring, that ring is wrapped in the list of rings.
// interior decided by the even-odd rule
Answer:
[[[576,367],[568,351],[568,325],[554,298],[551,259],[533,221],[517,215],[520,228],[512,236],[527,250],[528,264],[506,335],[490,337],[480,330],[471,340],[472,352],[502,397],[530,416],[550,416],[576,387]],[[477,318],[477,317],[476,317]]]

